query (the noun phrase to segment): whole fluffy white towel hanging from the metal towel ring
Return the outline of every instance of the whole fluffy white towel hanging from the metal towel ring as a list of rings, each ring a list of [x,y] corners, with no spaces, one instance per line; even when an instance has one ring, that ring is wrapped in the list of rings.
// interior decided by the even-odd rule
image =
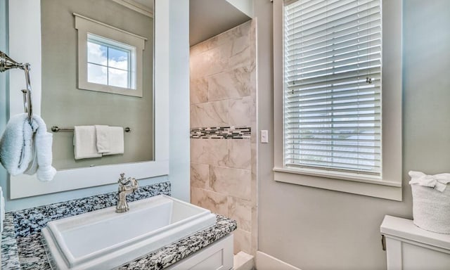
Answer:
[[[34,115],[30,124],[26,113],[14,115],[0,139],[0,162],[13,176],[37,173],[39,180],[50,181],[56,174],[51,167],[52,141],[41,117]]]

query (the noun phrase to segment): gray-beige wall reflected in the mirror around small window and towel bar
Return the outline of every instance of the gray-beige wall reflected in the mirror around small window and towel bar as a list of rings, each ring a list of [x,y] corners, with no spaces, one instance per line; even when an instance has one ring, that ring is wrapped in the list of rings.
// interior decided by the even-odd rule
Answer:
[[[72,13],[148,39],[142,98],[77,88],[77,30]],[[110,0],[42,0],[41,31],[41,116],[47,126],[108,124],[132,129],[124,134],[123,155],[83,160],[74,159],[72,132],[53,134],[53,166],[71,169],[153,160],[153,18]]]

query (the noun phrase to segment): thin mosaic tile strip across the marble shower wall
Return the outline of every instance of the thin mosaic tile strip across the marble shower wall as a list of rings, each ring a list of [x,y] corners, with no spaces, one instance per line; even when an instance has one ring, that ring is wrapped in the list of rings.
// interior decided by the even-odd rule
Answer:
[[[191,129],[191,139],[250,139],[251,127],[198,127]]]

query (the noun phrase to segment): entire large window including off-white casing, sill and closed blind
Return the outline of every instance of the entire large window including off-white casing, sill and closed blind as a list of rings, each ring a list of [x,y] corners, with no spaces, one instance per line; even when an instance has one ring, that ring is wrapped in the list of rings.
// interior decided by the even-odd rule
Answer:
[[[401,200],[401,0],[274,0],[274,110],[276,181]]]

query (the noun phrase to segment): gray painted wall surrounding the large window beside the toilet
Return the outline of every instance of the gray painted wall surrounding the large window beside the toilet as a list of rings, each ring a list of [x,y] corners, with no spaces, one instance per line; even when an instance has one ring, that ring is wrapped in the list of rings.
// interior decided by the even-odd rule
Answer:
[[[403,202],[274,181],[272,5],[254,1],[258,37],[259,250],[300,269],[385,269],[380,223],[412,218],[407,172],[450,172],[450,1],[405,0]]]

